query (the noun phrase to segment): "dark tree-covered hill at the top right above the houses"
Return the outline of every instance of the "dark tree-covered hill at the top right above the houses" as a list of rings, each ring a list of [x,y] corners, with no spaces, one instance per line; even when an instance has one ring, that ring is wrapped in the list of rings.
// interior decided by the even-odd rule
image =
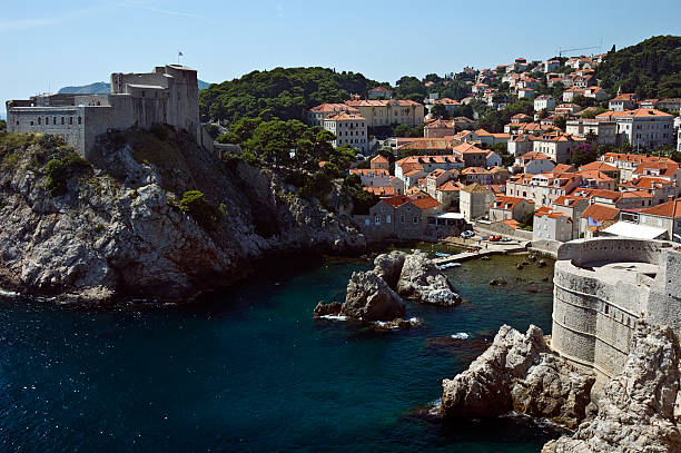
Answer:
[[[613,96],[621,87],[641,99],[681,98],[681,37],[652,37],[609,52],[595,77]]]

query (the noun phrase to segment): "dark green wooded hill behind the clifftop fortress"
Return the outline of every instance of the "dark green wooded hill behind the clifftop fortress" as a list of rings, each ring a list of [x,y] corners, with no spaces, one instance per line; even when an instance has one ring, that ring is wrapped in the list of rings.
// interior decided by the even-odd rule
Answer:
[[[358,72],[318,67],[275,68],[211,85],[199,93],[199,109],[204,121],[234,122],[245,117],[304,121],[314,106],[343,102],[351,93],[366,97],[378,85],[388,86]]]

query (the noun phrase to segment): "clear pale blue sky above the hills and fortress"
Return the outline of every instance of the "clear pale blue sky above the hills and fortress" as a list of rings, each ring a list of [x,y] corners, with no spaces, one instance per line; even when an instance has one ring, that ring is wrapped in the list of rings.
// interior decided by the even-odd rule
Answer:
[[[0,115],[7,99],[148,71],[178,50],[206,81],[325,66],[394,82],[681,35],[680,18],[679,0],[12,1],[0,9]]]

